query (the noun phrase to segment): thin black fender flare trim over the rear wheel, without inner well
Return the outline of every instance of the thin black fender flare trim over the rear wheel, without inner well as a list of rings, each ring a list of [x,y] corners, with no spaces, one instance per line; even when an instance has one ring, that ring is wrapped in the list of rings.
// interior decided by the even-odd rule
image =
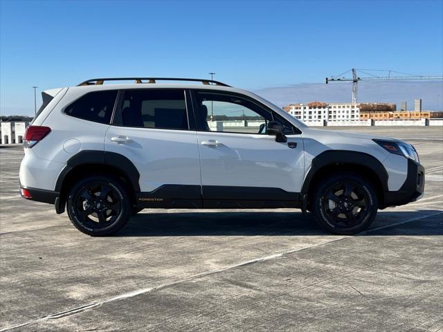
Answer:
[[[140,192],[140,173],[131,160],[121,154],[109,151],[84,150],[75,154],[66,162],[66,166],[60,172],[57,182],[55,183],[55,191],[61,192],[64,178],[72,169],[80,165],[105,165],[119,169],[129,179],[135,192]]]

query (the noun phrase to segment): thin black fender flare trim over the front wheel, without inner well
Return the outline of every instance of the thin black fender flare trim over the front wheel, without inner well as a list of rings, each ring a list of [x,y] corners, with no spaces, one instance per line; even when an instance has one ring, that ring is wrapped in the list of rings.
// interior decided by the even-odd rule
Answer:
[[[316,156],[311,163],[311,169],[307,172],[305,181],[303,181],[301,196],[307,195],[309,186],[316,173],[325,166],[329,165],[358,165],[370,168],[379,178],[383,191],[388,191],[388,172],[383,164],[370,154],[358,151],[347,150],[327,150]]]

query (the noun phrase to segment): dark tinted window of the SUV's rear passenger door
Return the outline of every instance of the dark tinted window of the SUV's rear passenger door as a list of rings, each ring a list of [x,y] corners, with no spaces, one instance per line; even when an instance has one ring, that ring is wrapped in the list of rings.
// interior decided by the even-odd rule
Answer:
[[[183,90],[125,91],[114,124],[125,127],[189,129]]]

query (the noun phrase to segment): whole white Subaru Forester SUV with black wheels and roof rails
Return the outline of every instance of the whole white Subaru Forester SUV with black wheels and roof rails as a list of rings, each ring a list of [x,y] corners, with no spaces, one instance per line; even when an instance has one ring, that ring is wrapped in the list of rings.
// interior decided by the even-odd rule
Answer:
[[[104,84],[127,80],[136,83]],[[21,196],[58,214],[66,207],[93,236],[143,208],[300,208],[329,232],[354,234],[377,209],[424,190],[412,145],[311,129],[216,81],[100,78],[42,97],[26,131]]]

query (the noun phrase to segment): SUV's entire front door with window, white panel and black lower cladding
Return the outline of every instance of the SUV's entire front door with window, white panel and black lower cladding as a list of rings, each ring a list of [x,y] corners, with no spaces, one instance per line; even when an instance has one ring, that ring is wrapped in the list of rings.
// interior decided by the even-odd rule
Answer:
[[[296,206],[305,168],[298,129],[236,93],[193,91],[193,104],[206,207]],[[284,125],[287,142],[266,134],[270,121]]]

